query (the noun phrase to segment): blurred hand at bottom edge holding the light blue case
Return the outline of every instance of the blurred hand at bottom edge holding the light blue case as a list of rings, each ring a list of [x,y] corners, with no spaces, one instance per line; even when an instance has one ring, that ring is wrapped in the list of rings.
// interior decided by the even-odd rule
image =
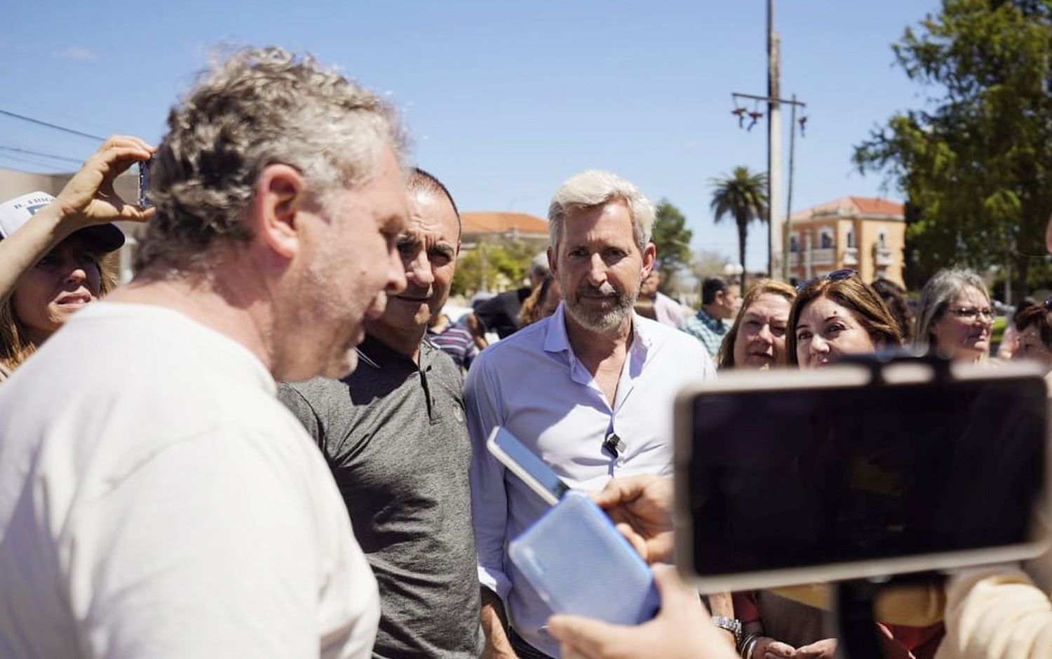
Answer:
[[[565,659],[740,659],[697,600],[668,565],[654,568],[661,593],[658,617],[638,626],[578,616],[552,616],[548,631]]]

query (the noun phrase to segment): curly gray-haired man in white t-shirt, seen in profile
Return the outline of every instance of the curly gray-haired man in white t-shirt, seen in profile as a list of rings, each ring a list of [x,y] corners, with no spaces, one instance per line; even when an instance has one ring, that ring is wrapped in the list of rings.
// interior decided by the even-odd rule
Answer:
[[[0,387],[0,656],[367,657],[376,581],[275,379],[350,373],[405,285],[397,119],[267,48],[168,121],[136,279]]]

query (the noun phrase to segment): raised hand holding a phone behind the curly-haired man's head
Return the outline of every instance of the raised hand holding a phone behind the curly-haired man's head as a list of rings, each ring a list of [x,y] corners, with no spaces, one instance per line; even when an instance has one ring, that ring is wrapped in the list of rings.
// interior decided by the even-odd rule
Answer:
[[[155,151],[137,137],[115,135],[106,140],[55,199],[70,229],[115,220],[144,222],[153,217],[154,208],[121,199],[114,191],[114,179],[136,162],[149,160]]]

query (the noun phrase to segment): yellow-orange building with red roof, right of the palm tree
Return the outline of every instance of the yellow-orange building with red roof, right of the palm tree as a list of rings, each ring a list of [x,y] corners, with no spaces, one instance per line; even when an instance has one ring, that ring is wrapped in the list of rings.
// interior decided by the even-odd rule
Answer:
[[[867,282],[884,277],[905,285],[903,204],[843,197],[794,213],[791,221],[789,276],[793,280],[806,281],[850,267]]]

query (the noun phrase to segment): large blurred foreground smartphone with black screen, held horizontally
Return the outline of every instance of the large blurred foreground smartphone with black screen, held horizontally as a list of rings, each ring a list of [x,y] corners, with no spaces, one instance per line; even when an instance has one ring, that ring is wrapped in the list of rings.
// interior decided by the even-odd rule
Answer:
[[[1021,560],[1048,546],[1027,365],[745,374],[675,405],[676,562],[703,592]]]

